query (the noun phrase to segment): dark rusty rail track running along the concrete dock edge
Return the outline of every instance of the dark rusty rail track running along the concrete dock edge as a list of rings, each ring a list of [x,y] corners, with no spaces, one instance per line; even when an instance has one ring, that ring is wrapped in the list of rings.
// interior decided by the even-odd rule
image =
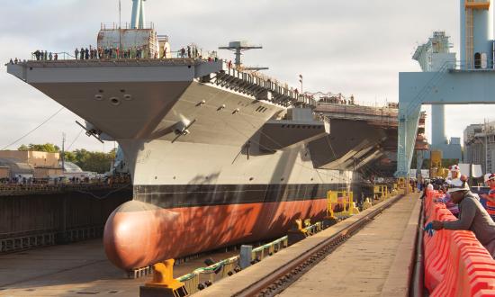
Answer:
[[[308,272],[312,266],[317,265],[321,260],[332,253],[338,246],[347,241],[359,229],[362,229],[368,222],[374,219],[378,214],[398,202],[405,195],[397,195],[392,199],[382,202],[374,211],[370,211],[363,218],[356,220],[354,223],[340,230],[338,233],[322,241],[319,245],[311,247],[307,253],[297,257],[286,266],[276,269],[269,277],[249,285],[246,289],[233,294],[236,297],[247,296],[275,296],[281,293],[293,284],[302,275]]]

